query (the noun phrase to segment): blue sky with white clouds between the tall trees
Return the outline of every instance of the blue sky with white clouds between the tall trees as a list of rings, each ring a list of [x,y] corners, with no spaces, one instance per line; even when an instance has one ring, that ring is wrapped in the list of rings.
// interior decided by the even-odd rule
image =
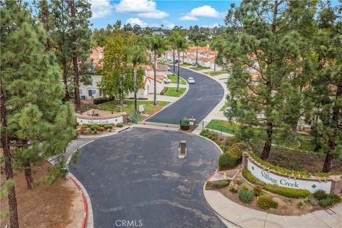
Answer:
[[[230,4],[239,1],[155,1],[155,0],[91,0],[93,28],[105,28],[121,20],[122,24],[145,26],[218,26]]]

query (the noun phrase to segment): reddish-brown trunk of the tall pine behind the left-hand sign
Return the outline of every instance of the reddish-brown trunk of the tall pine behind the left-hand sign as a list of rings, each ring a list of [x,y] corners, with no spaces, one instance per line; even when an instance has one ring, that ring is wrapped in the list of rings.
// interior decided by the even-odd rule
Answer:
[[[75,9],[75,3],[73,0],[69,1],[70,5],[70,11],[71,11],[71,21],[73,21],[73,24],[71,25],[71,28],[73,30],[76,29],[76,24],[75,24],[75,18],[76,18],[76,9]],[[73,47],[73,51],[75,50],[76,47]],[[74,53],[76,55],[76,53]],[[73,86],[75,90],[75,106],[76,106],[76,111],[81,112],[81,98],[80,98],[80,72],[78,70],[78,58],[77,56],[73,56],[73,73],[74,73],[74,80],[73,80]]]

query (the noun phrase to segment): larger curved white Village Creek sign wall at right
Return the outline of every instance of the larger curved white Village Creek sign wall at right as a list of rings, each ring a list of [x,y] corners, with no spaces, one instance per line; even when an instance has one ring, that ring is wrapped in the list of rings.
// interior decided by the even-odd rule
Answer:
[[[254,177],[257,177],[262,182],[279,185],[281,187],[291,187],[296,189],[309,190],[311,193],[316,192],[317,190],[324,190],[327,193],[330,193],[331,190],[331,181],[327,182],[318,182],[316,180],[305,180],[305,179],[290,179],[288,177],[284,177],[281,175],[276,175],[273,172],[266,172],[262,170],[261,167],[255,165],[254,162],[248,160],[247,169],[252,172]]]

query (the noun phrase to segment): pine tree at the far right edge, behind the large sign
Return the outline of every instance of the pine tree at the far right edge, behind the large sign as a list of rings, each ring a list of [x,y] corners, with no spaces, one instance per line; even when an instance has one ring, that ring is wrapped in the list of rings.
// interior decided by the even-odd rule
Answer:
[[[321,6],[318,15],[315,55],[316,75],[312,81],[313,133],[319,149],[326,153],[323,172],[331,171],[333,158],[342,155],[342,7]]]

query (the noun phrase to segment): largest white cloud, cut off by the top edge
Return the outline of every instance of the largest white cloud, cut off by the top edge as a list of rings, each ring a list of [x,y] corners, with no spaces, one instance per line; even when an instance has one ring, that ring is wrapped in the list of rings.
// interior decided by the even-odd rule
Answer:
[[[138,14],[147,19],[163,19],[169,16],[166,12],[157,10],[157,4],[152,0],[121,0],[115,5],[115,9],[119,13]]]

